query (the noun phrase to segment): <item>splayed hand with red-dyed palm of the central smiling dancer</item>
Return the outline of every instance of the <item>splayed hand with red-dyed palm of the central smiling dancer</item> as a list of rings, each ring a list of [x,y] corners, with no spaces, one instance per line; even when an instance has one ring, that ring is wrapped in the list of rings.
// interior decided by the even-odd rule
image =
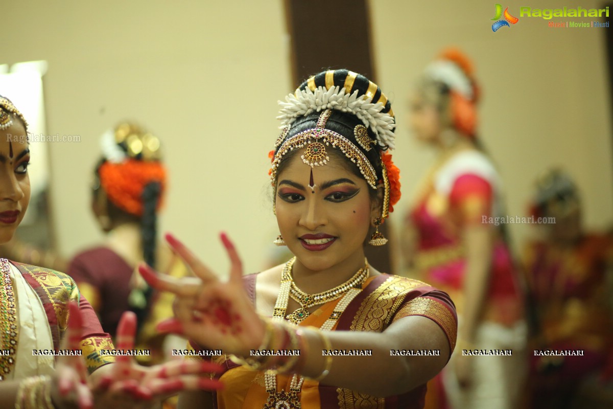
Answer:
[[[265,324],[256,313],[243,287],[243,267],[234,245],[221,234],[230,258],[227,281],[219,280],[183,243],[170,234],[166,240],[196,277],[172,278],[139,266],[143,278],[154,288],[177,295],[175,318],[159,324],[164,332],[182,334],[203,348],[248,355],[264,339]]]

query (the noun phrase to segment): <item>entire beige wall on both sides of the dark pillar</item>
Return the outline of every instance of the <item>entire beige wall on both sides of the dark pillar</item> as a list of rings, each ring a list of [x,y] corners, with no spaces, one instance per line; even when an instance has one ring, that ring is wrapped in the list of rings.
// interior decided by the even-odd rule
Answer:
[[[282,2],[29,4],[3,6],[10,18],[3,19],[0,63],[46,59],[47,132],[82,136],[80,143],[50,146],[61,252],[68,256],[101,238],[88,207],[98,138],[116,121],[134,118],[165,144],[170,195],[162,230],[182,237],[216,269],[227,266],[216,239],[225,230],[245,269],[260,269],[277,234],[266,189],[276,101],[295,86]],[[481,133],[506,182],[509,214],[524,214],[538,172],[564,164],[583,186],[588,224],[611,223],[603,33],[554,30],[538,19],[493,33],[493,4],[457,4],[371,2],[379,83],[398,116],[405,196],[396,221],[432,161],[409,135],[408,93],[435,53],[457,44],[478,69]],[[528,231],[513,230],[516,237]]]

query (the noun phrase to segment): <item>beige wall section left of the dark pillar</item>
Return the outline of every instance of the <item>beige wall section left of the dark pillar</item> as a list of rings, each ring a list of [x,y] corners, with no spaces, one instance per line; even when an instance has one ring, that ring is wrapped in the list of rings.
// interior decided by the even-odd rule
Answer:
[[[50,147],[61,252],[101,238],[88,191],[98,139],[134,118],[164,143],[170,195],[162,231],[225,269],[217,238],[225,230],[246,270],[261,268],[278,234],[265,194],[267,152],[278,135],[276,101],[291,90],[280,3],[33,3],[4,4],[11,17],[1,59],[46,59],[47,131],[82,136]]]

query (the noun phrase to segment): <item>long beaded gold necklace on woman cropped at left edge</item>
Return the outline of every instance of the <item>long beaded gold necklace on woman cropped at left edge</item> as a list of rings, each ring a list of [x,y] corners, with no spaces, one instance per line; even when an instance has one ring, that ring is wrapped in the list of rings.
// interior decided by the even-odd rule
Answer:
[[[4,380],[15,364],[18,332],[15,302],[9,261],[0,259],[0,339],[2,350],[9,351],[8,355],[0,355],[0,381]]]

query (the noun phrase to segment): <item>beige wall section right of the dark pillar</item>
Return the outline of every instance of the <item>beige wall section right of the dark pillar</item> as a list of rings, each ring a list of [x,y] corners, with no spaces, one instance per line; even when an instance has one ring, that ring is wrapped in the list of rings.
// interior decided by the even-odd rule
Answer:
[[[547,4],[543,7],[571,7]],[[510,2],[509,12],[519,17],[520,5],[527,4]],[[599,5],[581,1],[587,9]],[[587,225],[611,226],[613,147],[604,30],[613,28],[554,29],[541,18],[520,18],[493,32],[494,3],[485,1],[460,6],[377,0],[371,1],[371,12],[379,85],[392,94],[398,120],[395,156],[405,194],[398,213],[411,203],[433,154],[408,130],[408,95],[425,65],[455,45],[473,59],[481,83],[479,132],[503,176],[507,213],[526,215],[536,175],[557,165],[581,186]],[[398,223],[399,215],[394,216]],[[511,227],[516,245],[534,232],[532,227]]]

